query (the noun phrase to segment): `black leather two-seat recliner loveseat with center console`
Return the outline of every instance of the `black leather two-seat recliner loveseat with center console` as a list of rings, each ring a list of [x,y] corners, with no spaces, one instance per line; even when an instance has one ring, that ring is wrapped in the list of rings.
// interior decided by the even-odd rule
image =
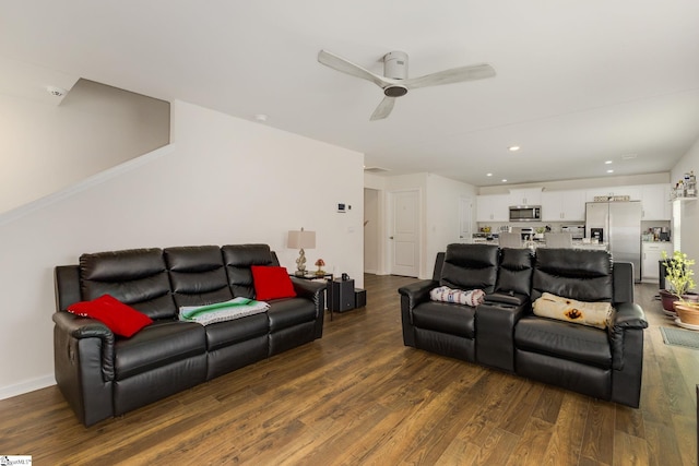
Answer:
[[[437,286],[483,289],[475,307],[431,301]],[[606,251],[450,244],[431,280],[399,289],[406,346],[476,362],[637,408],[643,368],[643,310],[632,265]],[[611,302],[605,330],[537,316],[544,292]]]

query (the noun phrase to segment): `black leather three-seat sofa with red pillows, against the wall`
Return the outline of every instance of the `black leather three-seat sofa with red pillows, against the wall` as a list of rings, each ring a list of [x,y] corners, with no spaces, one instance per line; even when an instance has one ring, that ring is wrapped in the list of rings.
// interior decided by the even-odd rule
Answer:
[[[292,278],[295,298],[206,326],[181,306],[254,297],[251,265],[279,265],[266,244],[138,249],[83,254],[55,268],[56,381],[91,426],[322,336],[323,284]],[[154,323],[130,338],[67,308],[109,294]]]

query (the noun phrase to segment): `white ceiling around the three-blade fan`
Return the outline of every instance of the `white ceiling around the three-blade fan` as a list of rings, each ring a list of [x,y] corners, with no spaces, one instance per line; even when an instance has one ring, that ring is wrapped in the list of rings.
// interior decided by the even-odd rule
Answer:
[[[378,74],[403,50],[410,76],[479,62],[497,76],[414,89],[369,121],[381,89],[321,65],[320,49]],[[697,0],[0,3],[4,68],[264,113],[389,175],[479,187],[668,171],[699,136],[698,52]]]

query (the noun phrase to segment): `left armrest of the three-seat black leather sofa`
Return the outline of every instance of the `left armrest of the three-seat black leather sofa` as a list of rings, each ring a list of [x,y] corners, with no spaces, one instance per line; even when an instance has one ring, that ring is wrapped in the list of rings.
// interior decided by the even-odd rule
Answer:
[[[112,417],[114,334],[68,312],[54,322],[54,373],[66,401],[85,426]]]

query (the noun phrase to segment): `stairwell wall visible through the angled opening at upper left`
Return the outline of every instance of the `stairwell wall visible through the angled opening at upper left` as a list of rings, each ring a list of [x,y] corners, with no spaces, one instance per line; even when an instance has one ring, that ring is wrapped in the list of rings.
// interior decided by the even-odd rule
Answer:
[[[0,94],[0,213],[169,142],[169,104],[80,80],[59,106]]]

